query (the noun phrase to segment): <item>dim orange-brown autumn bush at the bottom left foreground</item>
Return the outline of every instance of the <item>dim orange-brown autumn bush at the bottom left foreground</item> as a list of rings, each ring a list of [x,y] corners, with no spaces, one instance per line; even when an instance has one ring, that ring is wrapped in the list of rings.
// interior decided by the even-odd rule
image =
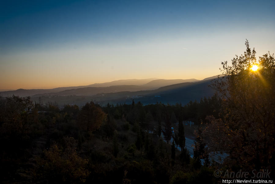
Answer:
[[[43,178],[40,179],[46,179],[52,183],[84,183],[89,175],[88,161],[76,153],[74,138],[67,137],[64,139],[64,150],[57,144],[53,144],[49,150],[44,151],[45,157],[38,160],[38,169],[43,173]]]

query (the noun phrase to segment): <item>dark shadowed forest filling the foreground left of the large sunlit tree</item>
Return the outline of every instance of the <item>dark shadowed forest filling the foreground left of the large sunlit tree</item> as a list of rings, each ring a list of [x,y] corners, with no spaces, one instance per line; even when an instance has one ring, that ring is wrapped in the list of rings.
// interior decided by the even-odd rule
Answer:
[[[29,98],[1,98],[1,178],[7,183],[212,181],[209,165],[198,163],[203,153],[192,159],[175,144],[184,148],[182,120],[198,124],[206,114],[217,116],[217,105],[214,96],[185,106],[143,106],[133,100],[131,105],[100,107],[91,101],[59,109]],[[175,142],[168,144],[172,136]]]

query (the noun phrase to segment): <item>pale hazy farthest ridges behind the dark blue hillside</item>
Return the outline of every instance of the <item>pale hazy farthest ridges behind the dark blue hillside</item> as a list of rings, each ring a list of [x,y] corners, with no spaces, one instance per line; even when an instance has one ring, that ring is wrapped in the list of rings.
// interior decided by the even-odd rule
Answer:
[[[18,89],[2,91],[1,96],[16,95],[20,97],[33,95],[95,95],[97,93],[115,93],[120,91],[152,90],[162,86],[196,82],[197,79],[125,79],[107,83],[95,83],[87,86],[58,87],[53,89]]]

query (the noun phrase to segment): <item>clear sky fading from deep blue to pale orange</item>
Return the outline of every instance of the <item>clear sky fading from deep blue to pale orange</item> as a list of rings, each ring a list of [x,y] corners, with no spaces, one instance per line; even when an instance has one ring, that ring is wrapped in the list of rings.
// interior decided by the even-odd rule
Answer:
[[[204,79],[275,52],[275,1],[2,1],[0,89]]]

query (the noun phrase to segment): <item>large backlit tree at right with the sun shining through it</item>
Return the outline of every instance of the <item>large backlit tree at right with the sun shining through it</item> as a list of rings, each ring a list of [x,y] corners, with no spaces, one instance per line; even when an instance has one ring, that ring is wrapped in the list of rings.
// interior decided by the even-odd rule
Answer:
[[[218,119],[208,117],[203,137],[210,151],[229,154],[232,168],[270,169],[275,156],[274,54],[257,60],[255,49],[248,41],[245,45],[244,54],[236,55],[231,65],[221,63],[223,77],[212,86],[222,99],[222,111]]]

